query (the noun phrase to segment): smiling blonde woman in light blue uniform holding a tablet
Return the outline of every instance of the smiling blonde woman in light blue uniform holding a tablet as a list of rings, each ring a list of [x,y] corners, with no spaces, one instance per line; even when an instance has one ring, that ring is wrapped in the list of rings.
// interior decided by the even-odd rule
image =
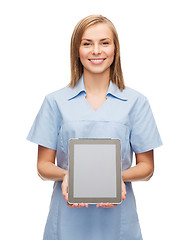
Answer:
[[[68,203],[70,138],[121,140],[121,204]],[[107,18],[91,15],[75,27],[71,82],[46,96],[28,140],[38,144],[39,176],[55,181],[44,240],[142,239],[131,182],[151,178],[153,149],[162,142],[146,97],[124,84],[117,32]]]

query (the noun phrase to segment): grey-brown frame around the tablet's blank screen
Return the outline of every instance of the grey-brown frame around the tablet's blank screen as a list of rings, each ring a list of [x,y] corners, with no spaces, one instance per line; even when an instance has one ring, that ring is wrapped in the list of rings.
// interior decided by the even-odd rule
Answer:
[[[74,145],[75,144],[113,144],[116,146],[116,197],[74,197]],[[71,138],[68,144],[69,170],[68,170],[68,202],[73,203],[112,203],[120,204],[122,202],[122,175],[121,175],[121,141],[111,138]],[[99,176],[98,176],[99,177]]]

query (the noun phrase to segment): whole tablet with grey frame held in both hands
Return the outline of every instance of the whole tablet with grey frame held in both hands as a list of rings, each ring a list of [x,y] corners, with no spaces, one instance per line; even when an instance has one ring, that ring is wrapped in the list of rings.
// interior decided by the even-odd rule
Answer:
[[[68,202],[121,203],[120,139],[72,138],[68,148]]]

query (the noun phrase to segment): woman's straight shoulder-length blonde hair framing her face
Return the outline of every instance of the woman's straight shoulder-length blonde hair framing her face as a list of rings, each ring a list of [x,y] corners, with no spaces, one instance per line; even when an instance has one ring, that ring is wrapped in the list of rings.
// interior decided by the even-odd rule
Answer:
[[[112,33],[113,41],[115,45],[115,56],[113,63],[110,66],[110,80],[116,84],[119,89],[122,91],[125,88],[123,73],[121,69],[121,60],[120,60],[120,46],[117,31],[113,23],[103,17],[102,15],[90,15],[79,21],[74,28],[72,37],[71,37],[71,49],[70,49],[70,59],[71,59],[71,82],[69,87],[74,87],[81,75],[83,74],[83,65],[79,58],[79,47],[81,43],[81,38],[84,31],[95,24],[105,23],[108,24]]]

